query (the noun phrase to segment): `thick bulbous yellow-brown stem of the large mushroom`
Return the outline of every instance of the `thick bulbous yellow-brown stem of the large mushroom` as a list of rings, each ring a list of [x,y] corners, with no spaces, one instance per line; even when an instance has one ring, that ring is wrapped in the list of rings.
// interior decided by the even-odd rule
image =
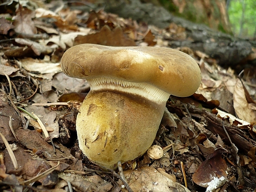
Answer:
[[[111,83],[104,87],[92,87],[80,108],[76,128],[83,153],[98,165],[114,169],[117,161],[135,159],[151,146],[167,99],[153,101],[149,98],[154,93],[141,87],[132,90],[144,90],[144,96],[121,91],[119,86],[111,89]]]

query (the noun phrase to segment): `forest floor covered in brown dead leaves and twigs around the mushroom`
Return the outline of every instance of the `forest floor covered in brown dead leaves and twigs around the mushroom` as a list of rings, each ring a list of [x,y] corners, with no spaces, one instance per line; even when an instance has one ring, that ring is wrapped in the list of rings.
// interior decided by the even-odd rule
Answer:
[[[202,82],[192,96],[167,101],[153,143],[163,157],[145,153],[124,163],[123,173],[102,170],[79,149],[75,121],[89,86],[63,74],[63,53],[85,43],[169,47],[186,31],[72,9],[76,3],[22,2],[0,4],[1,191],[256,192],[256,67],[238,74],[177,48],[198,63]]]

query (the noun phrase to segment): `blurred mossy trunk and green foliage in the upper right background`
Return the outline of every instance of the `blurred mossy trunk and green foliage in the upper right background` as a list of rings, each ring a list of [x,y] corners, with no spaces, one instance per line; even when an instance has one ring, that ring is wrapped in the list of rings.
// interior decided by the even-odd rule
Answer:
[[[256,0],[150,1],[154,4],[158,2],[174,15],[192,22],[206,24],[236,37],[256,39]]]

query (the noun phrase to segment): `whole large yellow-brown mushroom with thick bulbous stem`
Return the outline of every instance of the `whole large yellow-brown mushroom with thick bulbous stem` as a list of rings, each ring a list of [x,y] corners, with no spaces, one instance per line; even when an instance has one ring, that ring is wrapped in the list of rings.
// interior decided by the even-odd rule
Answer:
[[[190,96],[201,82],[194,59],[171,48],[80,44],[64,53],[61,65],[91,87],[77,115],[79,147],[108,169],[144,154],[169,96]]]

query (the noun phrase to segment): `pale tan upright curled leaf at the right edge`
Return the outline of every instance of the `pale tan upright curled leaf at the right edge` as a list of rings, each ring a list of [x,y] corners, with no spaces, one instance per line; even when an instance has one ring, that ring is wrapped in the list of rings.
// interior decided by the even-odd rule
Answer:
[[[253,103],[253,100],[249,96],[240,79],[237,79],[236,81],[233,100],[235,113],[238,118],[247,122],[256,121],[256,110],[253,110],[251,107],[249,107],[249,103]]]

